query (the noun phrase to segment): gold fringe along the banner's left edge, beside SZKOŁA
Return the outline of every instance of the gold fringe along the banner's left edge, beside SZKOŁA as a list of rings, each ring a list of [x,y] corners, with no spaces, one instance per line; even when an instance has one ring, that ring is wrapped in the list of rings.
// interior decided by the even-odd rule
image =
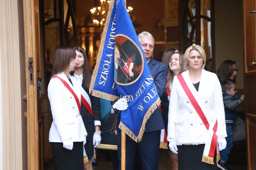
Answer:
[[[101,91],[94,90],[93,87],[94,87],[94,84],[95,84],[97,73],[99,71],[100,60],[101,60],[101,56],[102,56],[102,52],[103,52],[103,47],[104,47],[104,43],[105,43],[105,39],[106,39],[106,33],[108,31],[113,6],[114,6],[114,0],[111,0],[110,3],[109,3],[109,12],[108,12],[108,15],[106,17],[105,26],[103,28],[103,32],[102,32],[102,36],[101,36],[101,40],[100,40],[100,47],[99,47],[99,51],[98,51],[98,55],[97,55],[96,65],[95,65],[95,68],[93,70],[93,75],[91,76],[91,83],[90,83],[90,87],[89,87],[89,92],[90,92],[91,95],[102,98],[102,99],[111,100],[111,101],[119,99],[120,97],[114,96],[114,95],[111,95],[111,94],[108,94],[108,93],[104,93],[104,92],[101,92]]]

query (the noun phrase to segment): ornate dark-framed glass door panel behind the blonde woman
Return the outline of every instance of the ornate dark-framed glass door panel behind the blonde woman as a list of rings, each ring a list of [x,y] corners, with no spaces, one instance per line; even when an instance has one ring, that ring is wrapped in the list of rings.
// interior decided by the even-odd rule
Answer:
[[[214,1],[179,1],[181,26],[180,49],[185,52],[191,45],[200,45],[206,53],[208,71],[215,71]]]

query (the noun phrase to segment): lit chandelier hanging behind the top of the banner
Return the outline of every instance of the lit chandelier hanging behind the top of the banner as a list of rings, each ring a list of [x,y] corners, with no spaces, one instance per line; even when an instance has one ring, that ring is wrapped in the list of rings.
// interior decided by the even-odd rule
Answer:
[[[109,3],[110,3],[110,0],[100,0],[100,5],[90,10],[91,20],[93,21],[95,28],[102,28],[102,29],[104,28],[107,13],[109,11]],[[131,12],[132,10],[133,10],[132,7],[130,6],[127,7],[128,12]]]

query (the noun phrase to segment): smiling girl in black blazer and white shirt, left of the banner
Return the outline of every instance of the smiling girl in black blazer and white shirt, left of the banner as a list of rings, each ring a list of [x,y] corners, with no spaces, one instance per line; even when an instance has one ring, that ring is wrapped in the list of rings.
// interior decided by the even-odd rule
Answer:
[[[89,162],[84,164],[85,170],[92,170],[91,158],[94,154],[94,148],[98,147],[101,142],[100,125],[100,99],[89,94],[89,85],[91,72],[89,71],[88,60],[85,50],[81,47],[73,47],[76,52],[76,67],[71,75],[74,76],[76,84],[79,85],[81,94],[88,104],[81,102],[81,115],[85,129],[88,133],[85,143],[85,151]]]

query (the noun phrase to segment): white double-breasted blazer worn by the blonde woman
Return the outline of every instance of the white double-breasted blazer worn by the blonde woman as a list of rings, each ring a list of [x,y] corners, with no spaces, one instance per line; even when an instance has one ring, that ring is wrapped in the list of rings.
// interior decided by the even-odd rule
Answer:
[[[216,74],[202,69],[198,91],[189,78],[189,71],[181,74],[207,119],[217,119],[217,136],[226,137],[222,90]],[[206,142],[207,133],[207,128],[175,76],[171,87],[167,139],[175,139],[177,145],[198,145]]]

